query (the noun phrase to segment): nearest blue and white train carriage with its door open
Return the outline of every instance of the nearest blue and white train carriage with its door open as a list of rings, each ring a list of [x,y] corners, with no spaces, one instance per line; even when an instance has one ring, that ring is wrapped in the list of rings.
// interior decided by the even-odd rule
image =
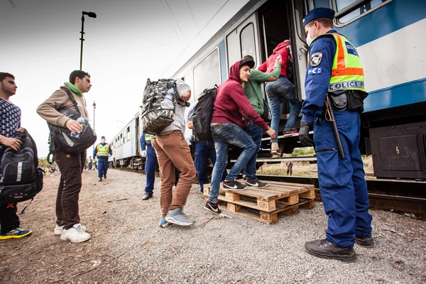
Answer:
[[[302,19],[317,7],[337,11],[335,29],[351,40],[364,65],[370,95],[361,116],[361,151],[373,155],[376,177],[426,179],[426,1],[251,0],[169,77],[185,78],[192,107],[205,88],[227,79],[242,56],[252,55],[257,67],[290,39],[296,94],[303,101],[308,45]],[[283,135],[289,112],[283,102],[278,133],[283,153],[301,146],[297,134]],[[187,129],[185,137],[190,135]],[[271,158],[269,138],[263,138],[262,148],[259,161],[280,161]],[[230,162],[239,153],[230,148]]]

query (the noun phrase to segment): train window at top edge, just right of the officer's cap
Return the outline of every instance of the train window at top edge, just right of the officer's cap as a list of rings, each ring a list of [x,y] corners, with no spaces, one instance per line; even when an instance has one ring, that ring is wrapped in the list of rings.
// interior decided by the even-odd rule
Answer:
[[[334,9],[337,11],[334,16],[337,20],[337,26],[356,21],[365,13],[380,8],[393,0],[334,0]]]

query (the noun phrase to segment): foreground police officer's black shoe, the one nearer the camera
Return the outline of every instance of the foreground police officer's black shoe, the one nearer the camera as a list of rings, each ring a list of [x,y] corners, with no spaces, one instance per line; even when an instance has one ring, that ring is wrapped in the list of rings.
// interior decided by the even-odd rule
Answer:
[[[337,259],[346,262],[356,261],[356,253],[353,248],[336,246],[327,239],[307,241],[305,243],[305,250],[307,253],[312,254],[312,256],[319,258]]]

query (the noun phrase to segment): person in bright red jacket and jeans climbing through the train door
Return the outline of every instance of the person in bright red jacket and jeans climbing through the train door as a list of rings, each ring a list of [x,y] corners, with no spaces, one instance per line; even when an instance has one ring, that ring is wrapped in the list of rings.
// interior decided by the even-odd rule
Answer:
[[[292,105],[290,115],[288,116],[288,120],[284,128],[285,134],[297,133],[297,131],[293,129],[293,126],[295,126],[297,116],[299,116],[300,109],[302,109],[302,102],[300,102],[296,97],[295,85],[290,82],[287,77],[287,65],[290,63],[287,62],[289,52],[290,40],[284,40],[282,43],[277,45],[277,47],[273,50],[273,53],[269,56],[268,60],[263,62],[263,64],[258,67],[258,70],[261,72],[271,73],[273,72],[275,61],[279,55],[281,55],[281,59],[283,60],[283,67],[281,68],[280,77],[275,82],[268,82],[265,88],[272,114],[271,128],[275,130],[277,136],[281,115],[281,99],[287,99],[288,102],[290,102]],[[278,138],[271,138],[271,143],[272,154],[278,154]]]

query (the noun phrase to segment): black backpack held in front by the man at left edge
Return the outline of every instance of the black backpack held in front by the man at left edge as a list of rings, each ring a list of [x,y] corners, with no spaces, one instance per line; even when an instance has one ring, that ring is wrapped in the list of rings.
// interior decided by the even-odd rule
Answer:
[[[1,157],[0,204],[33,199],[43,188],[35,141],[26,129],[16,138],[22,141],[21,148],[18,151],[6,148]]]

